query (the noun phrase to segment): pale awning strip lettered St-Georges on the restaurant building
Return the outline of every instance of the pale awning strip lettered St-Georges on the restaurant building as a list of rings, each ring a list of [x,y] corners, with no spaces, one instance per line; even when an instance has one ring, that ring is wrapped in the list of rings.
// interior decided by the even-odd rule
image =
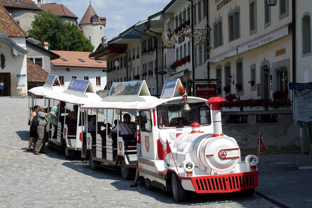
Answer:
[[[288,25],[289,24],[283,25],[279,28],[276,28],[275,30],[272,30],[271,32],[261,35],[258,38],[248,41],[242,45],[239,45],[237,49],[237,54],[247,52],[252,49],[256,49],[260,46],[263,46],[265,44],[268,44],[272,41],[275,41],[288,35]]]

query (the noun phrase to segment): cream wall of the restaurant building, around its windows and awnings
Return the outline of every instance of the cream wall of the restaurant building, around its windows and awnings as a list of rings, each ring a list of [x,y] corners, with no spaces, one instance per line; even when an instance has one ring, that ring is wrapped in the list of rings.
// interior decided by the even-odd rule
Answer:
[[[250,14],[249,14],[249,2],[245,1],[229,1],[227,4],[222,7],[218,7],[218,3],[220,1],[215,2],[215,0],[209,0],[209,25],[211,27],[210,30],[210,56],[215,57],[221,53],[227,52],[231,49],[237,49],[242,44],[247,43],[253,39],[259,38],[261,35],[264,35],[268,32],[273,31],[283,25],[286,25],[292,22],[292,6],[291,0],[288,2],[288,15],[284,18],[280,19],[279,15],[279,1],[277,1],[276,6],[270,7],[271,21],[270,25],[265,27],[264,25],[264,3],[265,1],[255,1],[257,7],[257,29],[256,33],[250,33]],[[229,27],[228,27],[228,13],[234,7],[239,8],[240,11],[240,37],[229,41]],[[218,8],[218,10],[217,10]],[[214,48],[214,21],[218,18],[222,18],[222,38],[223,45]],[[285,50],[284,54],[276,55],[276,51]],[[248,99],[263,99],[263,83],[261,83],[261,66],[266,63],[269,66],[269,74],[272,75],[272,79],[268,83],[269,88],[269,96],[277,90],[277,71],[281,68],[287,68],[288,71],[288,82],[292,81],[292,32],[289,29],[289,33],[285,37],[281,37],[278,40],[267,43],[263,46],[260,46],[256,49],[252,49],[247,52],[243,52],[238,55],[225,57],[223,60],[218,62],[209,63],[210,64],[210,78],[214,79],[216,77],[216,69],[221,69],[221,95],[225,97],[227,94],[222,90],[223,86],[226,85],[227,74],[225,74],[225,66],[230,66],[230,73],[233,76],[232,81],[234,80],[235,84],[237,83],[237,75],[236,75],[236,61],[241,59],[243,62],[243,92],[238,93],[235,89],[235,85],[230,84],[231,86],[231,94],[237,94],[241,96],[242,100]],[[251,64],[256,64],[256,80],[255,87],[252,89],[251,84],[248,81],[251,80]],[[257,86],[257,84],[260,84]],[[260,92],[260,96],[257,96],[257,88],[258,92]],[[259,94],[258,94],[259,95]],[[261,96],[262,95],[262,96]]]

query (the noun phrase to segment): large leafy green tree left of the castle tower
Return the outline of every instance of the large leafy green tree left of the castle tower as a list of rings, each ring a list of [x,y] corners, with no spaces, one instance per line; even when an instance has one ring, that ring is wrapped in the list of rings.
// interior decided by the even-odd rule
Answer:
[[[42,42],[49,42],[51,50],[92,52],[94,49],[74,23],[63,23],[52,12],[38,12],[28,34]]]

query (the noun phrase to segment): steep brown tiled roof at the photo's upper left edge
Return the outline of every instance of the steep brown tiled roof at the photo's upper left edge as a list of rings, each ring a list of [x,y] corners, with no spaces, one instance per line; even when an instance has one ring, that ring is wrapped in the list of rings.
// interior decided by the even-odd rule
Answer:
[[[2,5],[0,5],[0,31],[8,37],[27,37]]]

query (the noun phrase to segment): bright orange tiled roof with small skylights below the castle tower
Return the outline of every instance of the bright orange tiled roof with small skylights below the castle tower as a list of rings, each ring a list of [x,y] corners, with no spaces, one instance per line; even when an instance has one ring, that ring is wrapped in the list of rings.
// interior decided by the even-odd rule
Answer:
[[[106,61],[101,60],[101,63],[97,62],[93,58],[89,58],[90,52],[69,52],[69,51],[52,51],[60,58],[51,60],[53,66],[65,66],[65,67],[82,67],[82,68],[106,68]],[[65,58],[67,61],[62,60]],[[79,59],[84,60],[84,62]]]

